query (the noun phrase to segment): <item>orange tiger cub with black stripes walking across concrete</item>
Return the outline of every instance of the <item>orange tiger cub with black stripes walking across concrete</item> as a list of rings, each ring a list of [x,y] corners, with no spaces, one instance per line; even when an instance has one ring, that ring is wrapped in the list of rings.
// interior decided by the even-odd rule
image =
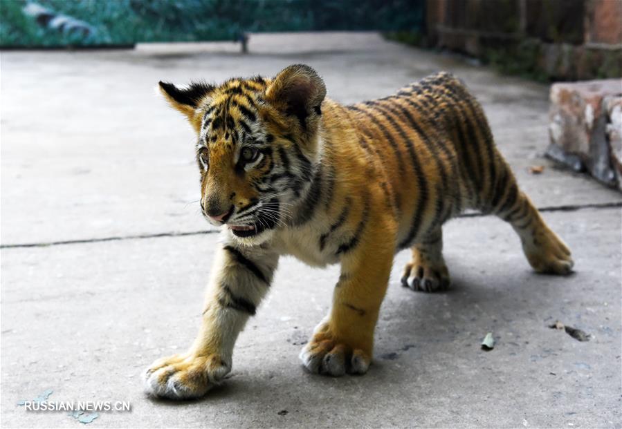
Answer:
[[[199,334],[145,371],[149,394],[200,397],[231,371],[282,255],[341,265],[331,310],[300,353],[307,370],[331,376],[367,372],[396,252],[412,252],[404,286],[448,287],[441,227],[465,209],[509,222],[536,271],[571,271],[568,247],[518,188],[482,107],[449,73],[349,106],[325,97],[304,65],[160,89],[196,131],[201,209],[222,244]]]

